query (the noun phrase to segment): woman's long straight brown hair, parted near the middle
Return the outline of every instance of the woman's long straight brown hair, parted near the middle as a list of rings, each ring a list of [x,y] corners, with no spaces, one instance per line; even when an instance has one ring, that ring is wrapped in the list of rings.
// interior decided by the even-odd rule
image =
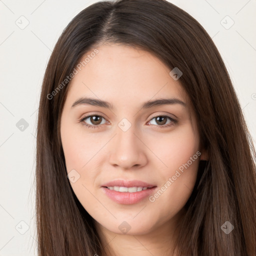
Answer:
[[[38,255],[105,255],[92,217],[68,182],[59,125],[69,84],[63,81],[85,53],[106,41],[140,47],[170,70],[182,71],[179,81],[209,158],[185,205],[178,255],[255,256],[256,154],[241,107],[210,36],[166,0],[96,2],[59,37],[45,71],[37,122]],[[221,230],[225,221],[234,227],[228,234]]]

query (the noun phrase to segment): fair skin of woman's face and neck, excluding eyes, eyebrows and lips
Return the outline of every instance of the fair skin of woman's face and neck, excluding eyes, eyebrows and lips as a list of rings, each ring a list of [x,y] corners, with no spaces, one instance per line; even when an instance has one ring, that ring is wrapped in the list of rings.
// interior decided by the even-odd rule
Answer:
[[[172,255],[173,230],[184,214],[199,160],[205,159],[191,109],[189,114],[189,98],[179,81],[169,75],[170,68],[151,53],[119,44],[102,44],[97,49],[98,54],[72,78],[61,114],[67,173],[75,169],[80,175],[70,184],[95,220],[100,237],[108,243],[106,250],[123,256]],[[82,96],[106,100],[114,108],[71,107]],[[187,106],[165,104],[141,109],[147,100],[170,97]],[[103,117],[98,128],[82,125],[80,119],[90,114]],[[167,117],[159,124],[153,118],[165,114],[177,122]],[[118,126],[123,118],[131,124],[125,132]],[[85,122],[97,124],[92,118]],[[171,122],[171,126],[160,127]],[[102,192],[101,185],[114,179],[138,179],[160,189],[197,151],[200,157],[153,202],[146,197],[135,204],[120,204]],[[131,227],[127,233],[118,228],[123,221]]]

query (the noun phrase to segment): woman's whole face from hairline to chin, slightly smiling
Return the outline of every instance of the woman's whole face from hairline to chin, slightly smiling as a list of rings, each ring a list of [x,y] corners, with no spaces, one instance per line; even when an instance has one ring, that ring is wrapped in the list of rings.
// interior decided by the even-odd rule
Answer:
[[[188,97],[149,52],[117,44],[97,50],[76,67],[61,115],[72,189],[105,230],[145,234],[170,226],[202,156]]]

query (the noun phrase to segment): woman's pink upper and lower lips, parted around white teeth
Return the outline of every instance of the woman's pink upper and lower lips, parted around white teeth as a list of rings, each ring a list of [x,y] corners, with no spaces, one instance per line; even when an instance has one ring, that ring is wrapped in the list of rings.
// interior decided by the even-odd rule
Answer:
[[[106,186],[146,186],[149,187],[145,190],[141,190],[138,192],[119,192],[115,190],[110,190]],[[120,204],[135,204],[142,199],[150,196],[156,189],[156,185],[148,184],[146,182],[140,180],[113,180],[107,182],[101,186],[102,191],[113,201],[120,203]]]

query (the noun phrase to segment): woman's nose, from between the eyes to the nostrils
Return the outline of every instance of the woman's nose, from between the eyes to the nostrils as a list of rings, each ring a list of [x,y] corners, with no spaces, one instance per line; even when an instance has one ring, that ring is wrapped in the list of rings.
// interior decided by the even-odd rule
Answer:
[[[144,166],[147,163],[147,147],[142,142],[141,136],[136,134],[133,125],[126,131],[117,126],[116,133],[110,142],[109,163],[121,169]]]

